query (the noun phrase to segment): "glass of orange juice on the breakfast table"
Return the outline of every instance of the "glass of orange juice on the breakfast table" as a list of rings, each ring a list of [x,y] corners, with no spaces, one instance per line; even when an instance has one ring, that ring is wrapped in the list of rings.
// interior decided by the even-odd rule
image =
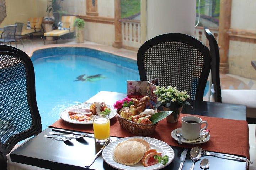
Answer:
[[[96,142],[106,142],[110,136],[110,117],[108,115],[95,115],[92,117],[94,139]]]

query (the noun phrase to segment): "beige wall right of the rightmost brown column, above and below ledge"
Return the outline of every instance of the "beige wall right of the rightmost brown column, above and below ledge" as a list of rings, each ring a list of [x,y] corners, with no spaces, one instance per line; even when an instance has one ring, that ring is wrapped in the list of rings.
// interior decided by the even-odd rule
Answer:
[[[231,28],[246,31],[256,30],[255,0],[232,0]],[[229,73],[256,80],[251,61],[256,60],[256,44],[241,41],[229,42]]]

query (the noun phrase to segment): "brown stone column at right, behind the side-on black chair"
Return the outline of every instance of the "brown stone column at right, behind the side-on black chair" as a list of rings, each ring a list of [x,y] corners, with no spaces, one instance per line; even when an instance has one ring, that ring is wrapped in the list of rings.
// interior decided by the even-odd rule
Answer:
[[[231,23],[232,0],[220,0],[220,16],[219,16],[219,40],[220,46],[220,73],[228,73],[228,51],[229,51],[229,35],[228,30]]]

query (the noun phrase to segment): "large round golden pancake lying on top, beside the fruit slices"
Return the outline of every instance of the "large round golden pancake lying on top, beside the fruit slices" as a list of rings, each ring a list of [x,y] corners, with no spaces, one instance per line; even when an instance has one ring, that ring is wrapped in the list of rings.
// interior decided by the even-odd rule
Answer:
[[[145,146],[142,145],[142,143],[136,141],[124,141],[123,144],[114,149],[113,158],[119,164],[130,166],[140,162],[144,153]]]

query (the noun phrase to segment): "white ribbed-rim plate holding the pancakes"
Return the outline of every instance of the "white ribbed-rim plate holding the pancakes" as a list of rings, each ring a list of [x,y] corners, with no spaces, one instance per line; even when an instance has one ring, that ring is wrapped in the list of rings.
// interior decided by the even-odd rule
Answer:
[[[140,138],[140,139],[144,139],[145,141],[149,142],[151,149],[156,149],[157,152],[162,152],[162,156],[168,155],[168,157],[169,157],[168,163],[165,165],[158,163],[158,164],[148,166],[148,167],[144,167],[140,162],[137,164],[134,164],[132,166],[126,166],[126,165],[117,163],[113,159],[114,149],[116,148],[118,143],[126,141],[129,138]],[[134,136],[134,137],[121,138],[119,140],[111,142],[103,150],[102,156],[108,165],[110,165],[116,169],[121,169],[121,170],[153,170],[154,169],[154,170],[156,170],[156,169],[162,169],[172,162],[172,160],[174,159],[174,150],[167,143],[160,141],[158,139],[154,139],[151,137],[139,137],[139,136],[135,137]]]

